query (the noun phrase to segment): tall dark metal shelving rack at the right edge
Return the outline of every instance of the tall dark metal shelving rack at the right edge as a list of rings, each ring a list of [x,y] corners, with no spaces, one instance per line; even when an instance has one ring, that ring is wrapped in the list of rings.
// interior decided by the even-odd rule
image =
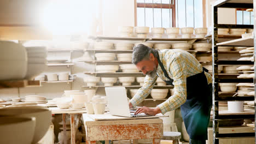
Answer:
[[[218,83],[220,82],[219,74],[218,74],[218,65],[219,64],[237,64],[237,65],[243,65],[243,64],[254,64],[250,61],[218,61],[218,46],[224,45],[224,46],[254,46],[253,38],[240,38],[230,41],[225,41],[220,43],[218,39],[218,28],[253,28],[253,25],[225,25],[225,24],[218,24],[218,8],[244,8],[249,9],[253,8],[253,1],[256,2],[256,0],[219,0],[216,3],[213,4],[212,7],[212,15],[213,15],[213,35],[212,35],[212,65],[214,65],[213,69],[213,143],[218,144],[219,139],[226,139],[226,138],[237,138],[237,137],[254,137],[255,133],[228,133],[228,134],[219,134],[219,120],[221,119],[254,119],[255,115],[253,113],[249,113],[248,115],[221,115],[219,113],[219,101],[253,101],[255,100],[254,97],[219,97],[218,92]],[[255,20],[254,20],[255,21]],[[255,22],[254,22],[255,23]],[[255,25],[255,24],[254,24]],[[253,79],[226,79],[221,82],[253,82]]]

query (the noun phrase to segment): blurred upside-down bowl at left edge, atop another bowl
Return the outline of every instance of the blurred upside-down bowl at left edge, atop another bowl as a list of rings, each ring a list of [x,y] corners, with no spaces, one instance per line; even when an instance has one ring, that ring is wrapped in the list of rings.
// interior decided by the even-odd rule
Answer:
[[[27,52],[25,47],[21,44],[14,43],[12,41],[0,41],[0,49],[0,61],[27,62]],[[15,65],[13,66],[15,67]],[[1,69],[4,68],[1,67]]]

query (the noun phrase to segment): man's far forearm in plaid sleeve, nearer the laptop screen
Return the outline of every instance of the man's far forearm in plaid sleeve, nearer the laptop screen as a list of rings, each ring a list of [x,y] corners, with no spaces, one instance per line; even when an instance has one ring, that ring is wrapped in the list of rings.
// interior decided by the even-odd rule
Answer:
[[[138,89],[137,93],[134,97],[130,100],[129,107],[136,107],[139,103],[141,103],[144,99],[148,97],[151,90],[153,89],[156,79],[158,77],[155,76],[154,78],[146,76],[144,79],[144,85]]]

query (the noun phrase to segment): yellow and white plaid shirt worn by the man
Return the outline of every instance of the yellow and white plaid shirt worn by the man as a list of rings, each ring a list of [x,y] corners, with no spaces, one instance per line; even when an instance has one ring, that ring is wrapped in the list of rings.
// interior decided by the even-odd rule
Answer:
[[[159,51],[159,59],[164,65],[168,76],[173,79],[174,85],[174,95],[164,101],[164,103],[158,105],[162,114],[164,114],[177,109],[185,103],[187,99],[187,77],[202,73],[202,65],[189,52],[179,49],[161,50]],[[158,65],[157,73],[162,80],[168,81],[160,65]],[[211,75],[206,72],[205,75],[208,84],[212,83]],[[138,89],[138,92],[130,100],[133,107],[148,97],[157,78],[158,76],[154,78],[149,76],[145,77],[144,85]]]

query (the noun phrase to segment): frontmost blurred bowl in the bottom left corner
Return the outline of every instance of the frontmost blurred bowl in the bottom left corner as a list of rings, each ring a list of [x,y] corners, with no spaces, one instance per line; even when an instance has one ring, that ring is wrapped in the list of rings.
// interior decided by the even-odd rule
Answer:
[[[0,143],[32,143],[35,127],[34,117],[0,117]]]

